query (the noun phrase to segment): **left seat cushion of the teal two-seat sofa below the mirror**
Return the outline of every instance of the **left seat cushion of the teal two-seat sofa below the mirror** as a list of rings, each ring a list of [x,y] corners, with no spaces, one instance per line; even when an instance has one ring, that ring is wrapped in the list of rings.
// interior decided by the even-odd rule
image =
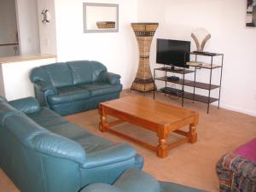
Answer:
[[[48,96],[48,102],[52,105],[76,102],[79,100],[90,98],[89,90],[85,90],[78,86],[61,87],[57,89],[58,94],[55,96]]]

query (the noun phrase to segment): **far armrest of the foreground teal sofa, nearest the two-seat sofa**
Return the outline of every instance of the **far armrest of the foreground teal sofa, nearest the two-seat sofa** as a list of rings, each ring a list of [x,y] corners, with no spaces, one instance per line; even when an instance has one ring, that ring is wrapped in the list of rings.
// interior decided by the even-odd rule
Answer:
[[[26,114],[35,113],[41,109],[38,101],[32,96],[10,101],[9,104]]]

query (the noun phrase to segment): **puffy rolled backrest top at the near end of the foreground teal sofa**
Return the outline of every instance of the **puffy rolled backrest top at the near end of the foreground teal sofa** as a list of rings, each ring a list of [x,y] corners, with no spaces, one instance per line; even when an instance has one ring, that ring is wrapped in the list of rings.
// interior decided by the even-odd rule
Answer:
[[[39,153],[57,158],[73,160],[84,165],[86,154],[84,148],[66,137],[54,133],[42,133],[32,138],[33,148]]]

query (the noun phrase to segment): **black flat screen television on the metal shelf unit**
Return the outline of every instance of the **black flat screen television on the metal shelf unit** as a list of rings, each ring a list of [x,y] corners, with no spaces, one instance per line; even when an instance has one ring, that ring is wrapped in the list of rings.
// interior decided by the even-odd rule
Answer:
[[[157,39],[156,63],[174,67],[186,67],[190,60],[190,42],[172,39]]]

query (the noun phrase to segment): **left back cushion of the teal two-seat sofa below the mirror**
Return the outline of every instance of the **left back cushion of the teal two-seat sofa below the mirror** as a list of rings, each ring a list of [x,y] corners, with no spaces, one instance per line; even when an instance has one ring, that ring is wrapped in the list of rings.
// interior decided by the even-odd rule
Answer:
[[[64,87],[73,84],[72,74],[66,63],[59,62],[42,66],[42,68],[48,74],[51,84],[54,87]]]

